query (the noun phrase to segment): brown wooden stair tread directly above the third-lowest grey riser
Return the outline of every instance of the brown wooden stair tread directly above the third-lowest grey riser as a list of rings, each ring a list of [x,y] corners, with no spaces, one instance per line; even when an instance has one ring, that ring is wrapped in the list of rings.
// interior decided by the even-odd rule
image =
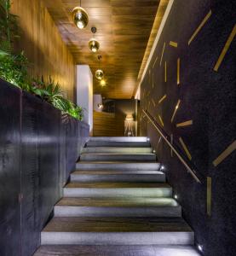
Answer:
[[[66,184],[66,189],[76,188],[93,188],[93,189],[129,189],[129,188],[170,188],[168,183],[114,183],[114,182],[94,182],[94,183],[79,183],[72,182]]]

